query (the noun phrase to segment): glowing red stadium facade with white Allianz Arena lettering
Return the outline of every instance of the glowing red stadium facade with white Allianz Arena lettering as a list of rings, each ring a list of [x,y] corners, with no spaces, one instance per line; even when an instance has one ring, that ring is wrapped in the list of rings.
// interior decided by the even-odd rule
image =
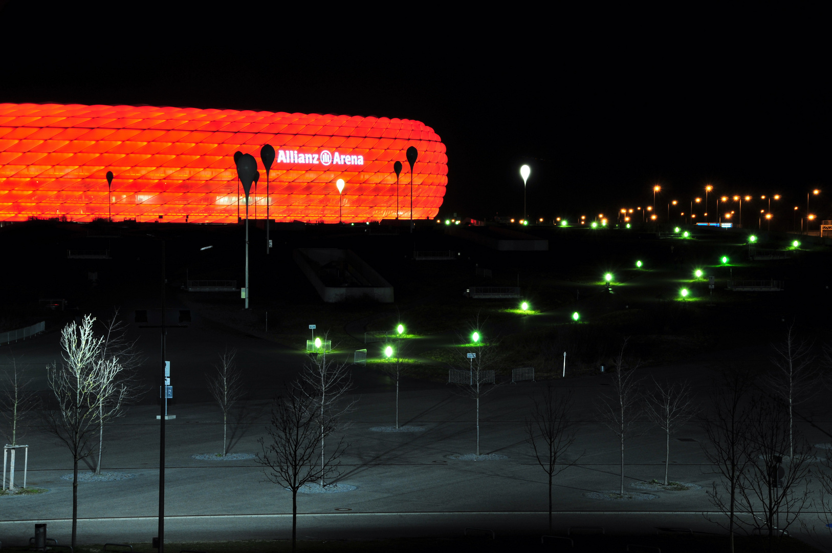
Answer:
[[[268,197],[260,148],[275,148]],[[369,222],[434,217],[445,146],[422,122],[178,107],[0,104],[0,221],[236,222],[234,153],[257,159],[250,218]],[[394,162],[402,162],[396,186]],[[114,178],[108,187],[106,173]],[[336,182],[345,182],[339,194]],[[398,200],[397,200],[398,194]],[[397,209],[398,204],[398,209]],[[340,208],[340,210],[339,210]]]

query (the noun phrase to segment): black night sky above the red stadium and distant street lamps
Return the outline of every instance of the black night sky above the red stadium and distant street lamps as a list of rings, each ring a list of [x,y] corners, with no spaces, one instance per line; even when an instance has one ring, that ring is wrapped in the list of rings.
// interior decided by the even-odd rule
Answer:
[[[655,183],[657,205],[688,202],[709,182],[783,194],[791,214],[829,182],[819,14],[199,9],[7,2],[0,102],[418,119],[448,148],[443,215],[522,216],[522,163],[537,217],[648,204]],[[830,199],[812,211],[829,218]]]

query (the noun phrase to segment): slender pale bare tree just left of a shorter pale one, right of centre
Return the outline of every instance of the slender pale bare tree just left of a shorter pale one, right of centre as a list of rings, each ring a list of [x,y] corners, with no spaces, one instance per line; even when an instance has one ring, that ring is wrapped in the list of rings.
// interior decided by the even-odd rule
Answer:
[[[601,397],[598,409],[602,421],[617,437],[621,446],[621,489],[624,495],[624,445],[626,438],[636,431],[638,418],[641,416],[641,378],[637,378],[636,369],[640,361],[633,361],[626,356],[629,336],[624,338],[621,349],[614,360],[616,371],[612,378],[612,394]]]

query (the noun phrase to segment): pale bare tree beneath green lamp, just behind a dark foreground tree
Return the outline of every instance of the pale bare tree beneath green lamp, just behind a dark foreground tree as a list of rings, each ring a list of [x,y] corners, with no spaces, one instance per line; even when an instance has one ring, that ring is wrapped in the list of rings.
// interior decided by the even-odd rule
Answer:
[[[325,341],[325,336],[324,336]],[[344,401],[347,392],[354,388],[349,365],[327,360],[326,352],[310,356],[300,372],[299,390],[308,397],[318,411],[316,421],[320,427],[320,485],[326,486],[327,474],[324,441],[335,428],[344,428],[341,417],[355,410],[357,399]]]

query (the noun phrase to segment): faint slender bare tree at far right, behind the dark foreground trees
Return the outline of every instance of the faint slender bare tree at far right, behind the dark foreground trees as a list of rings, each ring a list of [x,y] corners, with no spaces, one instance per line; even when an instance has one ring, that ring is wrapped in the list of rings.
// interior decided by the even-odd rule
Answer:
[[[809,401],[820,391],[820,372],[811,354],[812,342],[799,338],[795,323],[786,329],[785,340],[773,344],[770,356],[775,370],[765,376],[765,383],[785,403],[789,428],[789,453],[794,451],[795,406]]]

